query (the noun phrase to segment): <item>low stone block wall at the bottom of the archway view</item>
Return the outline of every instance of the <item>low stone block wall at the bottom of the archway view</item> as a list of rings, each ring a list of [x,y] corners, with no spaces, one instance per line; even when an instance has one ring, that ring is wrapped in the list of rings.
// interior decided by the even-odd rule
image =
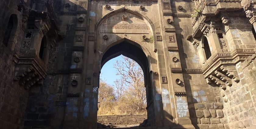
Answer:
[[[145,119],[147,119],[147,114],[145,115],[106,115],[98,116],[98,123],[102,124],[116,124],[116,125],[130,125],[130,124],[141,124]]]

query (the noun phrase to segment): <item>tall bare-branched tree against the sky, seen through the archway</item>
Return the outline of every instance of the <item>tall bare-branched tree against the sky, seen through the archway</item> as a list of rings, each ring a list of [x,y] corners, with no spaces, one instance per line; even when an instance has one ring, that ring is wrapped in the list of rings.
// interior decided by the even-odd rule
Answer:
[[[121,80],[123,80],[124,85],[126,85],[127,90],[125,90],[122,96],[130,99],[122,99],[122,101],[129,100],[126,103],[130,103],[133,107],[136,107],[134,112],[140,112],[145,110],[146,107],[146,89],[144,87],[144,74],[137,62],[126,56],[122,56],[123,60],[117,60],[114,68],[117,70],[117,75],[121,75]],[[126,104],[126,106],[128,106]]]

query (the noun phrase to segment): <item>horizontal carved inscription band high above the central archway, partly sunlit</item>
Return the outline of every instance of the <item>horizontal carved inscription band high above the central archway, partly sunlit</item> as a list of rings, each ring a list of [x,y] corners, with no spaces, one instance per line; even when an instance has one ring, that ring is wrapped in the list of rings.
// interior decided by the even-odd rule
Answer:
[[[102,29],[147,29],[146,24],[102,24]]]

